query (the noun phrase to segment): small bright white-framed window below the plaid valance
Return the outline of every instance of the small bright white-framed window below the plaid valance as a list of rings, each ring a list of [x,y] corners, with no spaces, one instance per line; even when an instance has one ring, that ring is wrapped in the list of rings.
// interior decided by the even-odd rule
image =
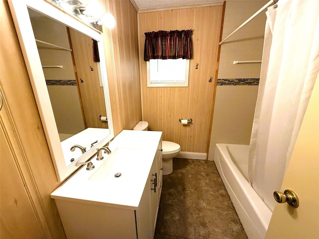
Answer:
[[[189,60],[151,59],[147,61],[148,87],[188,87]]]

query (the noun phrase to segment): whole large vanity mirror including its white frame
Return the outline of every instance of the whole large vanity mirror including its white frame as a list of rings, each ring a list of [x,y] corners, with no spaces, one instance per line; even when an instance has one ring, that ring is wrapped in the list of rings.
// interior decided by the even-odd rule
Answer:
[[[44,0],[10,0],[9,6],[63,181],[78,168],[77,161],[86,161],[114,137],[102,35]],[[86,151],[77,146],[71,151],[73,145]]]

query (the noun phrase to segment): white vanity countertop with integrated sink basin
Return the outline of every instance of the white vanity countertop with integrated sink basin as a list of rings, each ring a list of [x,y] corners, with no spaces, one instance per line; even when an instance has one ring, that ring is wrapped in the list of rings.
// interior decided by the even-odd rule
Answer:
[[[51,198],[136,210],[160,142],[159,131],[123,130],[110,143],[110,155],[92,160],[51,193]],[[114,177],[115,173],[122,175]]]

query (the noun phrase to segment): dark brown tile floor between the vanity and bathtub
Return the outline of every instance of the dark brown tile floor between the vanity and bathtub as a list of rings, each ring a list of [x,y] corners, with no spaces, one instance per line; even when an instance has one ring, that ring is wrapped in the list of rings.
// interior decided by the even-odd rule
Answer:
[[[173,159],[154,239],[247,239],[213,161]]]

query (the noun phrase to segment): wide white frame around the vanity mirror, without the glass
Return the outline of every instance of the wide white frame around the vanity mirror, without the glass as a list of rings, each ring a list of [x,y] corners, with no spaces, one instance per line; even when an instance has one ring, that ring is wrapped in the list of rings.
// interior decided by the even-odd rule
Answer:
[[[14,26],[18,35],[18,40],[21,46],[27,72],[30,78],[36,105],[40,114],[46,140],[51,153],[54,169],[58,180],[62,182],[75,170],[81,167],[75,166],[77,161],[85,162],[94,153],[96,153],[97,148],[102,147],[114,137],[103,36],[101,35],[101,32],[99,32],[97,29],[78,20],[75,16],[62,11],[57,6],[45,0],[8,0],[8,3],[13,18]],[[66,167],[64,161],[61,142],[58,135],[58,130],[53,110],[51,107],[49,93],[46,87],[44,73],[42,70],[40,56],[38,53],[31,25],[31,20],[27,9],[28,7],[98,41],[101,78],[104,82],[104,96],[107,107],[106,110],[110,134],[101,142],[97,143],[92,148],[90,148],[90,150],[88,150],[81,157],[76,159],[68,167]]]

